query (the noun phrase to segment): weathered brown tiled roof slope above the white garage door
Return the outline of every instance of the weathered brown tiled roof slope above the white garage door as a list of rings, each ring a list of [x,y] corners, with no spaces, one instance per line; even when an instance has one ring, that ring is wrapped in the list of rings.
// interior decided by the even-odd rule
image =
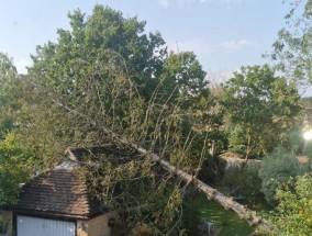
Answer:
[[[79,168],[57,167],[23,186],[15,212],[89,218],[103,212],[90,198]]]

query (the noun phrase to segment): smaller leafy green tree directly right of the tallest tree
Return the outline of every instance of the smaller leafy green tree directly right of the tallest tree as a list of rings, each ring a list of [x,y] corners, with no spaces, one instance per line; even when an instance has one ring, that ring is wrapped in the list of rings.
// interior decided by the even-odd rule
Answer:
[[[171,103],[181,103],[181,109],[186,113],[183,117],[188,117],[181,123],[182,142],[191,132],[197,132],[198,137],[194,143],[200,146],[205,141],[204,136],[208,135],[210,137],[208,146],[211,148],[210,154],[213,155],[214,141],[218,139],[219,134],[218,127],[222,123],[222,112],[216,109],[216,100],[210,92],[205,75],[192,52],[178,54],[170,52],[164,61],[161,76],[165,77],[166,88],[171,87],[175,91]],[[196,148],[191,156],[198,156]],[[197,161],[197,158],[193,159]]]

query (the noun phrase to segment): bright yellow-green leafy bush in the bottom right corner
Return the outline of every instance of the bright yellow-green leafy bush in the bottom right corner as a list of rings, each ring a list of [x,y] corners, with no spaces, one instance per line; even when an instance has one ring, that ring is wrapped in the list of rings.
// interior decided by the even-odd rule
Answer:
[[[293,181],[296,183],[293,184]],[[264,235],[305,236],[312,234],[312,177],[305,175],[283,182],[277,190],[279,202],[269,216],[274,225],[270,231],[264,229]]]

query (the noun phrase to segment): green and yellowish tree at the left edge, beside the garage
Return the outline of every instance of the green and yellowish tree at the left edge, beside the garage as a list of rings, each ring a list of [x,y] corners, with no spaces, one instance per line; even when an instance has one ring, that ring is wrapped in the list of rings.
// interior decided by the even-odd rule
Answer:
[[[18,142],[15,112],[19,103],[21,78],[7,54],[0,53],[0,202],[15,203],[19,196],[19,183],[24,182],[30,173],[34,151]],[[29,162],[30,164],[30,162]]]

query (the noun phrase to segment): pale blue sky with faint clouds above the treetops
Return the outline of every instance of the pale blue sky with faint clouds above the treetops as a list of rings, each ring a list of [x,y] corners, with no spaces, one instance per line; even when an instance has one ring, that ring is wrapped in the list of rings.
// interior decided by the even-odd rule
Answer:
[[[25,72],[35,46],[69,29],[69,11],[90,15],[96,3],[146,21],[146,31],[159,31],[170,49],[193,50],[212,72],[264,64],[287,12],[281,0],[11,0],[0,8],[0,52]]]

